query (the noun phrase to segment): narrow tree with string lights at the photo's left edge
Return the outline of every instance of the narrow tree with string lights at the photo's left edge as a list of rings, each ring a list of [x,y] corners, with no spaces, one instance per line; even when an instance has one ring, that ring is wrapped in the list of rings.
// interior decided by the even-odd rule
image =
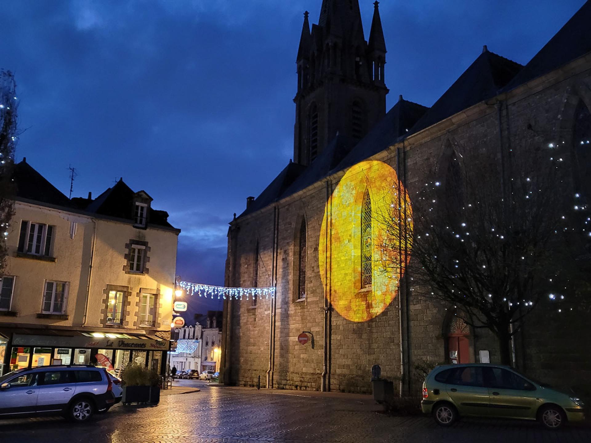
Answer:
[[[0,278],[7,257],[6,240],[14,214],[14,149],[17,133],[17,84],[10,71],[0,71]]]

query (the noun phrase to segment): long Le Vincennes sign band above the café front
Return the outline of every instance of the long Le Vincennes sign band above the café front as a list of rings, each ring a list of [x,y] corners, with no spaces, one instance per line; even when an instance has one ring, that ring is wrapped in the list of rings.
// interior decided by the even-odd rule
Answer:
[[[59,335],[21,335],[14,334],[13,346],[53,346],[70,348],[100,349],[145,349],[168,350],[168,341],[147,340],[142,338],[95,338],[95,337],[60,337]]]

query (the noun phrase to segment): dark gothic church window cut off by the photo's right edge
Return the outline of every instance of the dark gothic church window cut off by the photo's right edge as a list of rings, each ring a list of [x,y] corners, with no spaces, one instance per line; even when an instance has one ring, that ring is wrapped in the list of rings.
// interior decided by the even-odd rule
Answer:
[[[573,140],[579,173],[577,188],[586,201],[591,201],[591,113],[582,101],[574,114]]]

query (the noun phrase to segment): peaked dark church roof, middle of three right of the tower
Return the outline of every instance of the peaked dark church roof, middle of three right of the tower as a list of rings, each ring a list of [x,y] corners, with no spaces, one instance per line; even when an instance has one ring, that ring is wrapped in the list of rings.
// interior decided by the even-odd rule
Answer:
[[[523,68],[508,58],[484,48],[459,79],[418,120],[409,133],[421,131],[483,100],[498,95]]]

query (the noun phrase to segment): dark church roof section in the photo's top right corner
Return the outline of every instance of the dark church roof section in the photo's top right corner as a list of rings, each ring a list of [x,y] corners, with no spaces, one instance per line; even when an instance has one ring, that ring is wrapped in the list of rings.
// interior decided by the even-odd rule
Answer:
[[[590,28],[591,1],[587,1],[504,90],[514,89],[591,52]]]

